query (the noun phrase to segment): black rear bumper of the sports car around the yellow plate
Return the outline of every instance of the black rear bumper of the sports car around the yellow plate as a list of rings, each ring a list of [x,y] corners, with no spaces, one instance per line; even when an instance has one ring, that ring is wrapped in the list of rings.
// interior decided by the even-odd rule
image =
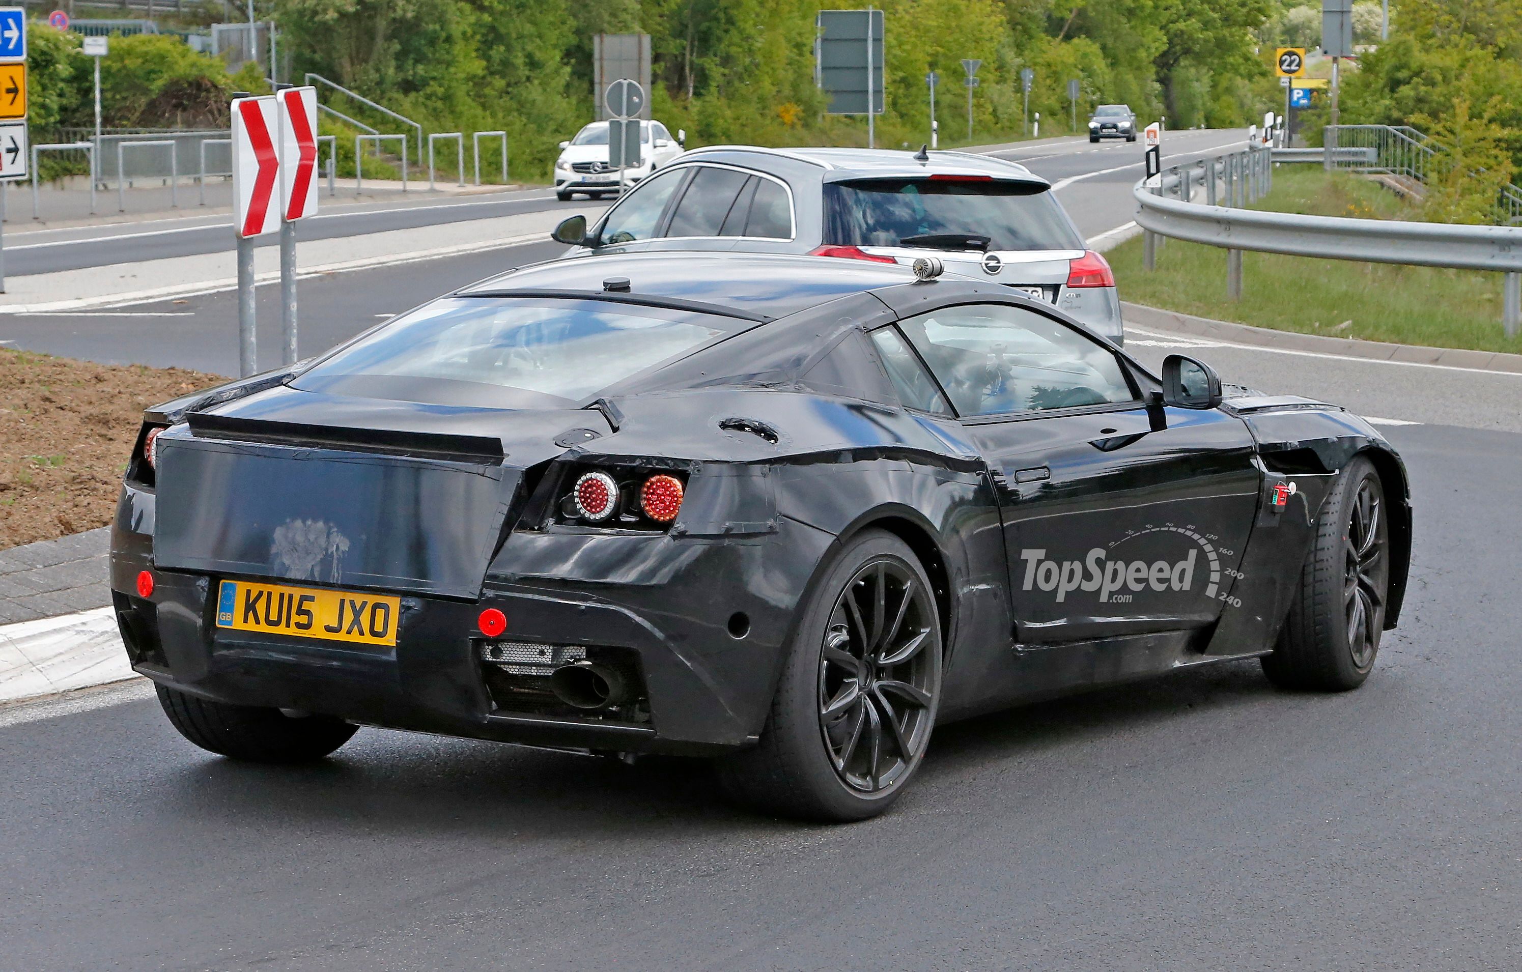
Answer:
[[[714,754],[759,733],[791,622],[793,599],[763,598],[743,581],[775,578],[767,561],[787,537],[677,551],[650,549],[682,543],[664,534],[616,537],[598,558],[587,557],[586,535],[539,534],[511,537],[499,555],[537,575],[495,570],[478,601],[403,595],[393,648],[233,631],[215,624],[221,578],[154,569],[152,508],[151,491],[125,487],[113,531],[113,599],[129,660],[160,685],[230,704],[528,745]],[[798,554],[793,543],[785,560],[799,563]],[[135,593],[143,569],[154,570],[151,599]],[[504,695],[504,669],[482,660],[482,607],[508,618],[496,642],[595,646],[627,660],[642,712],[578,713]],[[744,637],[729,634],[734,613],[746,615]]]

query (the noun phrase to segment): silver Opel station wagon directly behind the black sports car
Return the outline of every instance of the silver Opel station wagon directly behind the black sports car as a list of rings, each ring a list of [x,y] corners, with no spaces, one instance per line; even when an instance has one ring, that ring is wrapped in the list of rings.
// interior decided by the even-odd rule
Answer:
[[[569,256],[658,249],[799,253],[880,263],[936,256],[947,272],[1055,304],[1120,344],[1102,256],[1024,166],[966,152],[764,149],[686,152],[594,225],[572,216]]]

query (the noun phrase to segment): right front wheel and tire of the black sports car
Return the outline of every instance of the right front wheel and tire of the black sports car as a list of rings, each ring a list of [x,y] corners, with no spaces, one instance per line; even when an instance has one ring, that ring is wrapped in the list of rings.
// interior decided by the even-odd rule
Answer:
[[[1345,692],[1364,685],[1379,654],[1388,595],[1385,491],[1374,464],[1358,456],[1326,500],[1263,674],[1286,689]]]

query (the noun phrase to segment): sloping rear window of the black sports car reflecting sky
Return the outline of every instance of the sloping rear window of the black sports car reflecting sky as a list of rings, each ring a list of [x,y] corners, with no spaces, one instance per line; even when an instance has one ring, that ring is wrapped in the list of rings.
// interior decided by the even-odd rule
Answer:
[[[303,391],[559,408],[723,333],[714,318],[607,301],[451,297],[318,362]]]

